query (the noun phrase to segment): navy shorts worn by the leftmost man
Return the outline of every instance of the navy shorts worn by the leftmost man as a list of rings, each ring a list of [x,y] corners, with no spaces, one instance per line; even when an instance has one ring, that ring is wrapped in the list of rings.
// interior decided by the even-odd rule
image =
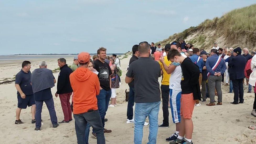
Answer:
[[[34,94],[26,95],[25,99],[21,98],[20,95],[17,95],[17,98],[18,98],[18,108],[26,109],[27,106],[29,107],[35,104]]]

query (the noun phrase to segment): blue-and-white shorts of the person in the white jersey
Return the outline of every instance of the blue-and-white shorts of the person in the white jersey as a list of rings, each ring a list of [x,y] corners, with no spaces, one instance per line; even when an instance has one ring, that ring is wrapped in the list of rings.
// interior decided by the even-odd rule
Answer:
[[[181,90],[170,89],[170,106],[172,111],[173,123],[180,122],[180,98]]]

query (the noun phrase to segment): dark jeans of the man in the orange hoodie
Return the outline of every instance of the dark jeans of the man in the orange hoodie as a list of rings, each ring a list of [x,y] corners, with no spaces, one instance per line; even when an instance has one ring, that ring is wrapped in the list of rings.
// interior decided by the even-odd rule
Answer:
[[[93,110],[92,112],[82,114],[74,114],[74,119],[78,144],[84,144],[86,141],[84,136],[86,134],[85,131],[87,128],[87,123],[89,123],[94,129],[94,132],[97,135],[97,143],[105,143],[104,127],[102,126],[98,110]]]

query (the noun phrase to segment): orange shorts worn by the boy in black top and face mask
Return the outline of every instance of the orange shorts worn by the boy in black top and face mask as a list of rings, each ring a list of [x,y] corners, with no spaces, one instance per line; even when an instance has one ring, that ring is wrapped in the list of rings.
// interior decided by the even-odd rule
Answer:
[[[193,97],[193,93],[190,94],[181,94],[180,98],[180,115],[183,116],[184,119],[191,119],[193,110],[195,107],[195,100]]]

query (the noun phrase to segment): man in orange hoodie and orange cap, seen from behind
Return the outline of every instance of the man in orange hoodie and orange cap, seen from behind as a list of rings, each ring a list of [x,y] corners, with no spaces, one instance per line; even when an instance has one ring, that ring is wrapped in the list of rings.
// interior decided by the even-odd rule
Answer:
[[[100,92],[97,74],[88,70],[90,54],[81,52],[78,55],[79,68],[70,74],[70,84],[73,89],[73,114],[77,143],[85,143],[87,122],[97,135],[97,143],[105,143],[104,127],[102,126],[96,95]]]

